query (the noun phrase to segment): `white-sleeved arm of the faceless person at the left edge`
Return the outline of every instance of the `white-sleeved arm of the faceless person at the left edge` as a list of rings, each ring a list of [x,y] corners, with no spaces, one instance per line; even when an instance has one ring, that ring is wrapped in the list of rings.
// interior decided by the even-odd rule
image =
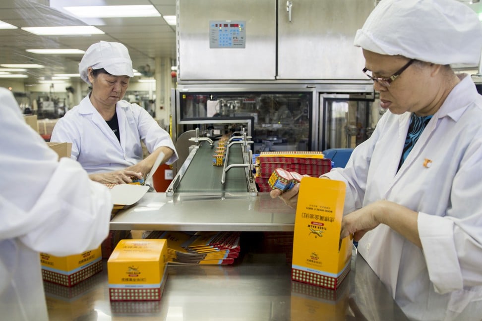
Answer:
[[[98,247],[109,233],[109,190],[78,162],[58,161],[9,90],[0,88],[0,101],[0,133],[8,136],[0,140],[0,168],[8,169],[0,180],[0,239],[56,256]]]

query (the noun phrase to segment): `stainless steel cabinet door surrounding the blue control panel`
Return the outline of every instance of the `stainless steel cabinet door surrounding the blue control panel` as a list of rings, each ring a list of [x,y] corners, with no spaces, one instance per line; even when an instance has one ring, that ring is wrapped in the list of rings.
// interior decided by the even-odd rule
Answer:
[[[180,80],[275,79],[276,0],[178,0]],[[211,48],[212,21],[244,21],[244,48]],[[211,41],[211,42],[210,42]]]

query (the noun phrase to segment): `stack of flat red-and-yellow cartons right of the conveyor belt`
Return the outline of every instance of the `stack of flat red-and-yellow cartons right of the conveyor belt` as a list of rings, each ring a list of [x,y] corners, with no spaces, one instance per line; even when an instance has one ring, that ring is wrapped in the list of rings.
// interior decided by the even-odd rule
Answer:
[[[300,175],[318,177],[332,168],[330,159],[322,152],[262,152],[255,157],[255,182],[259,192],[270,192],[269,178],[277,169],[282,168]]]

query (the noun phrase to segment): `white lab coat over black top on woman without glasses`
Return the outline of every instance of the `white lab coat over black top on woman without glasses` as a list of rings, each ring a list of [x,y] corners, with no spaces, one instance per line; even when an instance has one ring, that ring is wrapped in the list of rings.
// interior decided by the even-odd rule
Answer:
[[[169,133],[137,104],[124,100],[117,103],[120,143],[116,135],[86,96],[59,119],[52,132],[52,142],[72,143],[71,158],[79,161],[89,174],[132,166],[143,159],[141,140],[149,153],[167,146],[178,159]]]

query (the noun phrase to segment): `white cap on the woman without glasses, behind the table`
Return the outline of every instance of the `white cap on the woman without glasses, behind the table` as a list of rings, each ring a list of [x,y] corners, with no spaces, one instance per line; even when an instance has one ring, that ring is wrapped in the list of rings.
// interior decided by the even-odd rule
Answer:
[[[130,60],[127,48],[115,42],[101,41],[87,49],[79,63],[80,78],[90,85],[87,69],[104,68],[114,76],[133,77],[132,60]]]

